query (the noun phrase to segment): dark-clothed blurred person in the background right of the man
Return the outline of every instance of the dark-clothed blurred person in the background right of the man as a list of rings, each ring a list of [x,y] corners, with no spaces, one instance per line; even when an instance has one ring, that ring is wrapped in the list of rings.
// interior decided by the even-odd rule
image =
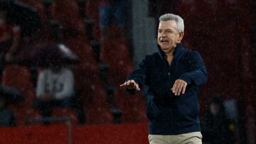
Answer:
[[[223,99],[215,95],[210,100],[208,112],[201,121],[203,142],[210,144],[233,144],[233,124],[227,118]]]

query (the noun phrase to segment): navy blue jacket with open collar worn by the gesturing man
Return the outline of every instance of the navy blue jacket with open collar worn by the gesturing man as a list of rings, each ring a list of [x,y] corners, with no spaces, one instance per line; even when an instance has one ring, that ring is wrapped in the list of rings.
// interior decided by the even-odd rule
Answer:
[[[146,116],[149,118],[149,134],[176,135],[201,131],[199,121],[198,88],[207,81],[206,67],[198,52],[182,48],[174,50],[171,65],[159,52],[146,55],[127,80],[134,79],[139,87],[147,90]],[[176,79],[188,83],[185,94],[175,96],[171,92]],[[130,93],[132,91],[127,90]]]

